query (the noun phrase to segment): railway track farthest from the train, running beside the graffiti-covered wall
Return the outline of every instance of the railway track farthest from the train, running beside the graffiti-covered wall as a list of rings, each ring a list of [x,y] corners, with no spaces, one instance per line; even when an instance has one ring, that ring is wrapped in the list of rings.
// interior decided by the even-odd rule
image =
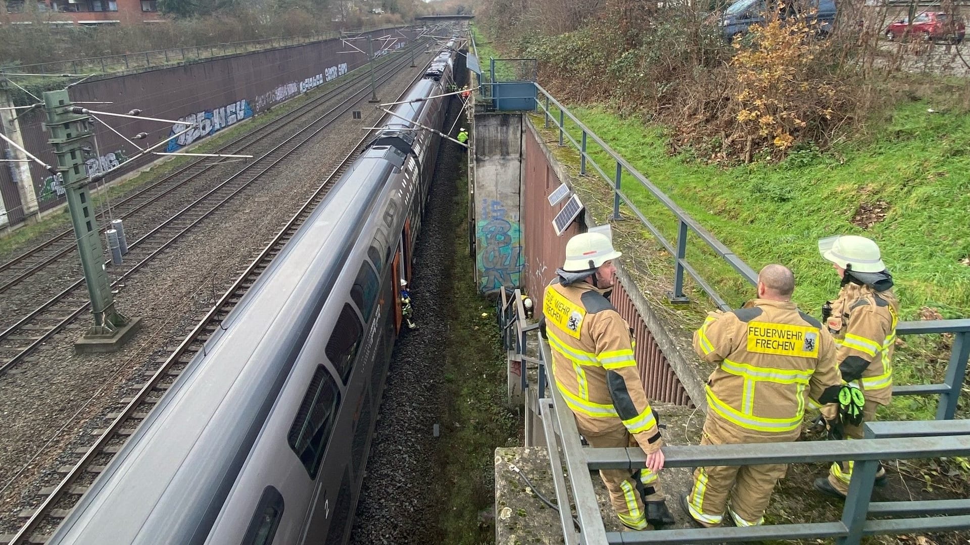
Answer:
[[[417,44],[414,47],[421,47],[422,45],[423,44]],[[387,67],[391,67],[391,70],[394,70],[394,68],[399,64],[401,63],[398,61],[386,61],[378,67],[378,70]],[[386,74],[387,73],[385,72],[382,75]],[[265,142],[267,138],[271,137],[280,130],[291,126],[292,123],[306,117],[308,114],[315,111],[322,105],[327,104],[340,94],[353,89],[355,86],[361,83],[369,81],[369,77],[370,75],[366,71],[360,74],[355,74],[349,80],[343,81],[334,88],[328,89],[320,96],[307,101],[306,104],[280,115],[266,125],[258,127],[228,144],[222,145],[218,149],[214,150],[213,153],[244,153],[255,145]],[[178,169],[178,171],[165,176],[162,179],[146,186],[145,188],[142,188],[136,193],[127,196],[123,200],[114,203],[112,205],[113,218],[125,219],[130,217],[136,212],[155,204],[159,200],[173,195],[173,193],[179,188],[185,186],[191,181],[199,179],[200,176],[219,166],[221,166],[221,163],[212,162],[211,159],[206,158],[193,161]],[[96,217],[98,218],[99,222],[102,224],[105,223],[103,220],[106,219],[106,216],[103,212],[98,214]],[[102,225],[101,231],[104,232],[109,228],[110,225],[104,224]],[[69,254],[73,254],[76,250],[77,245],[75,244],[74,240],[74,231],[72,229],[68,229],[51,237],[49,240],[45,240],[44,242],[34,246],[26,252],[17,255],[10,261],[0,264],[0,295],[15,287],[23,280],[33,276],[37,272],[46,269],[49,265],[56,263],[61,258]]]

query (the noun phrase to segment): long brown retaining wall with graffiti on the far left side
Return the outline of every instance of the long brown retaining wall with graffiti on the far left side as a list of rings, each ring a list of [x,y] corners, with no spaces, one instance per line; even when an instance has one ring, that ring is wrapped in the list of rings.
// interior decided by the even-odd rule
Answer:
[[[402,32],[409,41],[412,35],[404,29]],[[397,36],[401,39],[401,47],[404,47],[405,41],[396,30],[383,29],[371,34],[374,38],[388,34]],[[358,48],[366,49],[364,41],[355,41],[354,44]],[[374,49],[381,44],[383,42],[375,41]],[[85,81],[72,88],[71,100],[113,103],[83,105],[90,110],[126,113],[138,109],[143,115],[162,119],[194,119],[199,115],[207,119],[199,131],[188,133],[175,144],[170,143],[159,148],[159,151],[178,151],[185,145],[194,144],[222,128],[230,127],[242,119],[272,108],[283,100],[328,80],[339,78],[344,72],[367,63],[367,55],[359,51],[344,52],[348,50],[352,48],[339,40],[326,40]],[[341,67],[342,64],[346,66]],[[176,134],[172,124],[120,117],[101,118],[128,138],[146,132],[148,138],[138,141],[139,144],[157,144]],[[41,160],[56,164],[47,143],[48,135],[43,122],[44,112],[40,111],[29,112],[21,117],[24,147]],[[100,124],[95,127],[98,152],[89,150],[89,170],[108,169],[124,163],[137,151],[106,127]],[[157,156],[146,156],[131,161],[114,171],[113,176],[145,166],[156,158]],[[63,192],[57,181],[40,166],[31,164],[30,169],[40,208],[44,210],[63,203]]]

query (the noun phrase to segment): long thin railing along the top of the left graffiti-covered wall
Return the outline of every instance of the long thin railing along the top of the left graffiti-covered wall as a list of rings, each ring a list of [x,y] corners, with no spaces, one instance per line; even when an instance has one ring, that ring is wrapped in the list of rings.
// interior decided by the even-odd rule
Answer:
[[[385,28],[402,28],[402,26],[380,26],[354,30],[353,32],[371,32]],[[283,48],[287,46],[301,46],[313,42],[333,40],[335,38],[339,38],[340,36],[341,31],[328,30],[324,32],[314,32],[311,34],[301,34],[281,38],[263,38],[260,40],[247,40],[244,42],[209,44],[205,46],[186,46],[183,48],[155,49],[150,51],[66,59],[36,64],[9,65],[0,67],[0,76],[2,76],[3,72],[30,74],[87,74],[91,71],[95,71],[99,74],[108,74],[112,72],[121,72],[141,68],[158,68],[168,66],[170,64],[197,61],[247,51],[259,51],[263,49]]]

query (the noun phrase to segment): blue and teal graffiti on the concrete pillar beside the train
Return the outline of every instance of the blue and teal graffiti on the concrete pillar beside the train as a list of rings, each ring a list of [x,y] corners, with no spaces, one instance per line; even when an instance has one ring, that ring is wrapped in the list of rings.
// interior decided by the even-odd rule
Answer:
[[[478,218],[475,239],[479,291],[519,287],[523,256],[518,214],[508,213],[501,201],[482,199]]]

